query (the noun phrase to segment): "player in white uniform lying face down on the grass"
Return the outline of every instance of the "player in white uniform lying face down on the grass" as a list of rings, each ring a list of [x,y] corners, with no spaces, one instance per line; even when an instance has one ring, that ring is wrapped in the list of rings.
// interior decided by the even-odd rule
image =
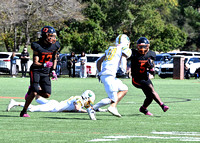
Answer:
[[[95,94],[91,90],[86,90],[81,96],[71,96],[69,99],[58,102],[56,100],[47,100],[43,97],[37,99],[40,105],[29,105],[28,110],[31,112],[81,112],[87,113],[83,107],[90,110],[91,105],[94,104]],[[14,99],[10,100],[7,107],[7,111],[10,111],[13,107],[24,107],[25,102],[17,102]],[[105,110],[101,110],[105,111]],[[90,113],[90,119],[96,120],[95,115]]]

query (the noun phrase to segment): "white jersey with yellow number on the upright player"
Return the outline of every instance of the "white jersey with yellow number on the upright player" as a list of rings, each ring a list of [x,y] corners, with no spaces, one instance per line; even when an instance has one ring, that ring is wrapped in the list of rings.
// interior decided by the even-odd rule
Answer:
[[[109,48],[105,51],[106,58],[102,63],[100,75],[116,76],[117,70],[121,64],[121,57],[124,48],[125,47],[121,45],[109,46]]]

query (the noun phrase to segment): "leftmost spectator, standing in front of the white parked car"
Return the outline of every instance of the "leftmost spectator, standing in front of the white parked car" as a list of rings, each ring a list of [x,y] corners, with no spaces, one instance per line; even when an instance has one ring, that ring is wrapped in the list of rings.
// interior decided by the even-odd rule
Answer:
[[[19,59],[19,57],[15,56],[15,52],[12,53],[10,63],[11,63],[11,68],[10,68],[10,75],[15,78],[17,75],[17,67],[16,67],[16,59]]]

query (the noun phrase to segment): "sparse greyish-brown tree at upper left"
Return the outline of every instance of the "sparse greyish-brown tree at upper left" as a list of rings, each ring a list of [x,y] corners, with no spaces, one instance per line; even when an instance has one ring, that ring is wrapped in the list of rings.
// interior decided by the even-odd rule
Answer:
[[[25,28],[20,31],[25,33],[26,44],[30,43],[30,34],[44,23],[53,25],[71,17],[79,20],[84,18],[81,14],[82,5],[75,0],[11,0],[1,2],[0,8],[0,25],[4,29],[1,33],[5,35],[9,29],[9,32],[15,32],[13,35],[17,35],[17,28],[22,25]],[[5,40],[12,43],[8,38]]]

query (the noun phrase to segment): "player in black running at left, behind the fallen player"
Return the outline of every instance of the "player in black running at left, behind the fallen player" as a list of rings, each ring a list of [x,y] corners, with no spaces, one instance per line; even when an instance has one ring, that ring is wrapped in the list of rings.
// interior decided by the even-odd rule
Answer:
[[[20,117],[30,117],[27,114],[28,106],[36,95],[48,98],[51,95],[50,69],[53,78],[57,79],[55,72],[57,62],[57,51],[60,44],[56,41],[56,31],[51,26],[41,29],[41,38],[37,42],[31,43],[33,50],[33,64],[30,68],[30,88],[29,94],[25,97],[26,102]],[[52,61],[52,62],[51,62]]]

